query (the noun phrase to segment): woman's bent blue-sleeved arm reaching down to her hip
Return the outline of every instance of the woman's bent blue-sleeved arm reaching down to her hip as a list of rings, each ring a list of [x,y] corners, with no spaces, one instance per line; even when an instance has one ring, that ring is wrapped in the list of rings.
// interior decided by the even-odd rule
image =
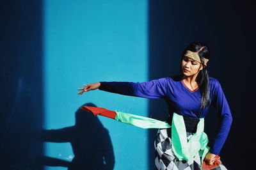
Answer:
[[[218,116],[220,118],[220,130],[215,137],[210,153],[219,155],[221,148],[227,139],[232,124],[232,114],[230,112],[230,108],[221,88],[220,82],[215,82],[213,90],[214,98],[212,104],[214,107],[216,107]]]

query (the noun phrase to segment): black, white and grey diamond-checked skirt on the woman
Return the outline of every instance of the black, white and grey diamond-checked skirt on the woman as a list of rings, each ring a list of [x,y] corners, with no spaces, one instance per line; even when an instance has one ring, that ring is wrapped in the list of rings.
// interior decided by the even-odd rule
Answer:
[[[188,139],[193,134],[187,132]],[[161,128],[156,135],[155,153],[156,153],[156,169],[158,170],[197,170],[200,169],[201,158],[199,153],[195,155],[193,160],[178,160],[172,151],[172,128]],[[227,169],[223,164],[214,168],[214,170]]]

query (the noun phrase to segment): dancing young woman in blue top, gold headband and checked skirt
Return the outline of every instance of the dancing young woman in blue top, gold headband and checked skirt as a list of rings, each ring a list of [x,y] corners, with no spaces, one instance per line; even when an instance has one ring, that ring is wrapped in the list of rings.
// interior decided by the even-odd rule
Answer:
[[[163,98],[168,104],[170,117],[167,122],[172,128],[162,128],[157,132],[156,168],[201,169],[202,157],[209,166],[220,164],[216,160],[219,160],[218,155],[232,123],[220,83],[207,73],[208,61],[209,47],[193,42],[182,54],[180,75],[149,82],[97,82],[84,85],[78,94],[100,89],[134,97]],[[203,130],[204,117],[210,105],[216,107],[221,123],[212,148],[208,150],[207,135]],[[185,130],[182,131],[183,128]],[[186,136],[185,141],[183,135]],[[214,169],[226,168],[220,164]]]

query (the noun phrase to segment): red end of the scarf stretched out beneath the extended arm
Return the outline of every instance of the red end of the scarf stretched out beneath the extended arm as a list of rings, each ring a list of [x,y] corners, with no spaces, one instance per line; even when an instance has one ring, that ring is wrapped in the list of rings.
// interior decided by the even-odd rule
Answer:
[[[104,109],[102,107],[83,106],[83,107],[80,107],[80,109],[82,109],[83,111],[86,111],[86,112],[92,112],[92,114],[94,114],[94,115],[99,114],[101,116],[105,116],[105,117],[108,117],[108,118],[111,118],[114,120],[116,118],[115,111],[109,111],[108,109]]]

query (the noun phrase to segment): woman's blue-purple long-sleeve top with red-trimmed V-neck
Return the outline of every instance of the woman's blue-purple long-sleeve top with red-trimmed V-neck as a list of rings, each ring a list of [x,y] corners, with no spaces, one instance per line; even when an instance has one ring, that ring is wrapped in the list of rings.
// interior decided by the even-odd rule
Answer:
[[[179,76],[149,82],[100,82],[99,89],[134,97],[163,98],[168,104],[170,116],[176,112],[189,118],[205,118],[209,112],[209,106],[205,109],[200,108],[200,90],[191,91]],[[211,77],[209,79],[209,94],[211,104],[216,107],[221,122],[210,152],[219,155],[230,130],[232,115],[220,82]]]

